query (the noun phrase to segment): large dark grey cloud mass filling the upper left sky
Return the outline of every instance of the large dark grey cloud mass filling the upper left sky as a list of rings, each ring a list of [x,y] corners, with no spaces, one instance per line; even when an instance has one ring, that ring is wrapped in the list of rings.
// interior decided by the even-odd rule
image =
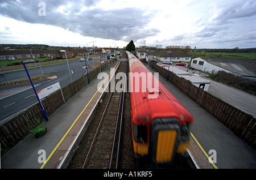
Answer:
[[[39,16],[40,2],[46,4],[46,16]],[[127,40],[155,36],[160,32],[152,28],[142,30],[151,20],[152,12],[145,15],[138,8],[123,8],[118,10],[103,10],[93,7],[98,1],[1,1],[0,14],[27,23],[55,25],[80,33],[83,36],[98,37],[113,40]],[[63,12],[57,10],[64,6]]]

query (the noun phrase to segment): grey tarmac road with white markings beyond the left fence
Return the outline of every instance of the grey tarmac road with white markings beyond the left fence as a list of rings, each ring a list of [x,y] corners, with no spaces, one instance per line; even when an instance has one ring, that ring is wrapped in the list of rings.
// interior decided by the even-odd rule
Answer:
[[[84,68],[82,68],[82,65],[85,65],[85,62],[69,62],[69,69],[73,72],[71,73],[72,81],[75,81],[79,79],[82,75],[86,74],[86,71],[84,70]],[[92,62],[91,66],[93,66]],[[88,71],[93,70],[91,66],[88,67]],[[71,83],[67,63],[44,66],[42,67],[42,70],[44,74],[56,75],[57,78],[43,79],[34,83],[36,91],[39,91],[57,82],[60,82],[61,88],[64,88],[66,85]],[[35,76],[42,74],[42,71],[40,70],[40,68],[34,68],[28,70],[28,73],[30,74],[30,76]],[[27,74],[25,71],[18,71],[10,72],[8,74],[5,74],[5,76],[6,79],[10,81],[20,78],[26,78]],[[4,78],[1,77],[1,80],[3,79]],[[8,93],[8,95],[6,93]],[[2,125],[15,115],[23,112],[31,105],[36,104],[37,102],[38,100],[35,97],[35,93],[30,83],[0,88],[0,125]]]

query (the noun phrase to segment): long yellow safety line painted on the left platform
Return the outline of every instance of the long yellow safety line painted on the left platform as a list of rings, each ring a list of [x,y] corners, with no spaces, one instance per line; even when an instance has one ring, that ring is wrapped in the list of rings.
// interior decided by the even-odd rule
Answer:
[[[118,63],[115,65],[117,66]],[[115,67],[113,68],[113,70],[115,70]],[[112,71],[113,71],[112,70]],[[112,71],[110,72],[110,74],[112,73]],[[109,75],[110,75],[109,74]],[[109,77],[108,75],[108,77]],[[105,81],[107,80],[108,78],[105,79]],[[101,87],[102,85],[105,83],[105,81],[101,84]],[[101,88],[100,87],[100,88]],[[93,97],[90,99],[90,101],[93,100],[94,96],[98,93],[98,91],[100,90],[100,88],[98,88],[98,90],[96,91],[96,93],[93,95]],[[85,106],[85,108],[82,110],[82,112],[79,114],[79,116],[76,118],[76,120],[73,122],[73,124],[71,125],[71,127],[69,127],[68,131],[65,133],[65,135],[63,136],[63,138],[61,138],[60,142],[56,145],[56,147],[53,149],[53,151],[51,152],[51,154],[48,156],[46,162],[43,163],[43,165],[40,167],[40,169],[43,169],[44,166],[47,164],[47,162],[49,161],[49,159],[52,157],[53,153],[55,153],[55,151],[57,150],[57,148],[60,146],[60,144],[63,142],[63,140],[65,139],[65,137],[68,135],[68,132],[72,129],[72,127],[75,125],[75,123],[77,122],[77,120],[80,118],[80,116],[82,115],[82,113],[84,113],[85,109],[87,108],[87,106],[90,104],[90,101],[88,102],[88,104]]]

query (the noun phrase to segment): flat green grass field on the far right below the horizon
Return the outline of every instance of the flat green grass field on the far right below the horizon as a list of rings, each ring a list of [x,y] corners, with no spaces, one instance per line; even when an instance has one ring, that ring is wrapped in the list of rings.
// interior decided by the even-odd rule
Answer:
[[[188,53],[192,57],[193,51]],[[195,52],[193,58],[246,59],[256,60],[256,53],[204,53]]]

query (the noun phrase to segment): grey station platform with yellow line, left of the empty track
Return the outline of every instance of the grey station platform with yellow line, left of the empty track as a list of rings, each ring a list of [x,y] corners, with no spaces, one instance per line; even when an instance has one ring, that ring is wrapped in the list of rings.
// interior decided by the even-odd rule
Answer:
[[[104,72],[113,74],[117,61],[106,68]],[[47,126],[47,134],[34,139],[31,134],[11,148],[1,157],[2,169],[56,169],[65,168],[66,158],[73,152],[75,140],[82,134],[82,129],[102,93],[98,91],[98,84],[102,79],[94,78],[76,95],[65,102],[50,115],[49,121],[42,124]],[[44,157],[43,157],[44,156]],[[45,162],[43,163],[42,160]]]

